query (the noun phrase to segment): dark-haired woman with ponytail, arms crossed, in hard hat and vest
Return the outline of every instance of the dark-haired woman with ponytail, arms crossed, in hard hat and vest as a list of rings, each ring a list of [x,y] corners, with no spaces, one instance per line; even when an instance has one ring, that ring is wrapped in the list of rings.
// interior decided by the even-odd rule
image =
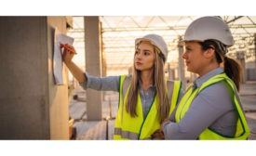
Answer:
[[[238,96],[242,69],[226,56],[234,45],[228,25],[220,17],[199,18],[187,28],[184,44],[187,71],[198,78],[162,124],[165,138],[247,139],[249,127]]]

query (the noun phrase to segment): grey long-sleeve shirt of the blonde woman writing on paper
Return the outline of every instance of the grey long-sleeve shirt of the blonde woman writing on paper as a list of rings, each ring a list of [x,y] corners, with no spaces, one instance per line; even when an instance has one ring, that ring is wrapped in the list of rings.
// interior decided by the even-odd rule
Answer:
[[[88,81],[84,83],[80,83],[80,85],[84,88],[91,88],[96,90],[105,90],[105,91],[116,91],[119,92],[119,76],[108,76],[108,77],[95,77],[91,76],[86,72],[88,77]],[[151,85],[146,92],[143,92],[141,87],[141,82],[139,82],[140,96],[141,96],[141,104],[143,110],[143,117],[145,118],[150,106],[155,98],[155,85]]]

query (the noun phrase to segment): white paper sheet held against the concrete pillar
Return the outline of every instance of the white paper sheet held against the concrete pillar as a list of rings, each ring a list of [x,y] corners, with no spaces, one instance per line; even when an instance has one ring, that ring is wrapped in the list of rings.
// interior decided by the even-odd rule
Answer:
[[[53,75],[55,84],[61,85],[63,82],[63,63],[62,63],[62,50],[60,44],[73,45],[74,38],[62,34],[55,29],[55,42],[54,42],[54,55],[53,55]]]

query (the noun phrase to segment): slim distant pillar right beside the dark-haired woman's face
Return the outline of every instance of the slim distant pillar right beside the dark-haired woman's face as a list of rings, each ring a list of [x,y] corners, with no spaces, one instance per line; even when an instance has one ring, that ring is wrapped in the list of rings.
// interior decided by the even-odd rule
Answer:
[[[182,36],[179,37],[178,49],[179,49],[179,78],[182,81],[182,89],[184,90],[186,88],[186,81],[185,81],[185,71],[184,71],[184,60],[182,58],[182,54],[184,52]]]

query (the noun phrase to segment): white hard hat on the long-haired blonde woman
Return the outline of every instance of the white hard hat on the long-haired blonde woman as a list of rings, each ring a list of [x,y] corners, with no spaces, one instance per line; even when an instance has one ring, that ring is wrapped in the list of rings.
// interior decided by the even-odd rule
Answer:
[[[135,45],[138,45],[141,41],[149,41],[152,45],[155,45],[163,54],[164,61],[168,58],[168,45],[166,44],[163,37],[157,34],[147,34],[141,38],[135,40]]]

